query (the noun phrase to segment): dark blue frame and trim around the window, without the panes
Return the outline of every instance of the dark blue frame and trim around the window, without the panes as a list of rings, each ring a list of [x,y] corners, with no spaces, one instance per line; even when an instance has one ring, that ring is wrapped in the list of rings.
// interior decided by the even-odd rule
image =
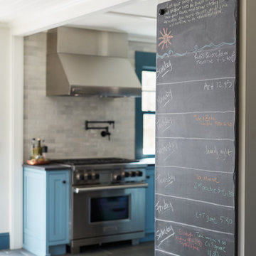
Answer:
[[[135,71],[141,83],[143,70],[156,71],[156,53],[135,52]],[[154,155],[144,155],[142,152],[143,114],[152,114],[152,112],[142,112],[142,97],[136,98],[135,106],[135,157],[136,159],[154,157]]]

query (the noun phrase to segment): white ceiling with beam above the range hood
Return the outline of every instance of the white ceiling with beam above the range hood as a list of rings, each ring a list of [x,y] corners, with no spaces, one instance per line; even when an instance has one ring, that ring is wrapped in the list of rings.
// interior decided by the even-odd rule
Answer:
[[[159,0],[0,0],[0,25],[16,36],[74,26],[155,38]]]

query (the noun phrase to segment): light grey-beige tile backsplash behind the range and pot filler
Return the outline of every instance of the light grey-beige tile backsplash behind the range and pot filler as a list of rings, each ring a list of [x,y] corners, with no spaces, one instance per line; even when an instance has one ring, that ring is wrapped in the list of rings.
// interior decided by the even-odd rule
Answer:
[[[155,48],[154,43],[129,42],[132,65],[135,50]],[[46,33],[26,37],[24,55],[24,161],[33,137],[45,140],[50,159],[134,158],[134,98],[46,97]],[[85,120],[114,120],[111,140],[99,130],[86,131]]]

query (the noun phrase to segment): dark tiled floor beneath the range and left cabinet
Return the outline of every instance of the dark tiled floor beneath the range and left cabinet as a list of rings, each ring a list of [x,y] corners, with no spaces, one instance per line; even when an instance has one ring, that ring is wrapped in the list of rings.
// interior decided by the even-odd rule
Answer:
[[[130,245],[129,242],[114,242],[81,249],[80,256],[153,256],[154,242],[143,242],[139,245]],[[0,250],[0,256],[33,256],[33,254],[26,250]],[[71,255],[67,254],[66,256]]]

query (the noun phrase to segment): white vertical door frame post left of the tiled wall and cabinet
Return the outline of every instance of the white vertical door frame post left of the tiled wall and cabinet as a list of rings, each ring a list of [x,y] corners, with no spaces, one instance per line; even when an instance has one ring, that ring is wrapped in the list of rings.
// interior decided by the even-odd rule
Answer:
[[[23,246],[23,37],[11,35],[10,248]]]

